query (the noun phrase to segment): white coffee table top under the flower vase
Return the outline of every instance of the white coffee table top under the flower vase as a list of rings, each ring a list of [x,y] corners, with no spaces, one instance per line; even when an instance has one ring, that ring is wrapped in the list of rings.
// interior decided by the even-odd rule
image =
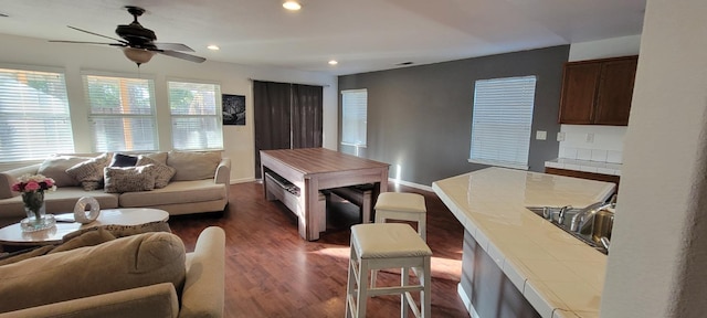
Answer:
[[[157,209],[107,209],[101,210],[98,218],[87,224],[78,222],[62,222],[60,220],[73,220],[73,213],[56,214],[56,226],[35,232],[22,232],[20,223],[14,223],[0,229],[0,244],[13,246],[38,246],[62,243],[66,234],[78,230],[103,225],[140,225],[151,222],[167,222],[169,213]]]

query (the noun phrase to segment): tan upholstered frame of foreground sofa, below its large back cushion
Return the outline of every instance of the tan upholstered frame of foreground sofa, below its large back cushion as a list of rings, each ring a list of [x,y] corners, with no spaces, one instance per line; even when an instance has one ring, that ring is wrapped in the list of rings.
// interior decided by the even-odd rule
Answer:
[[[175,286],[161,283],[0,314],[10,317],[178,317]]]

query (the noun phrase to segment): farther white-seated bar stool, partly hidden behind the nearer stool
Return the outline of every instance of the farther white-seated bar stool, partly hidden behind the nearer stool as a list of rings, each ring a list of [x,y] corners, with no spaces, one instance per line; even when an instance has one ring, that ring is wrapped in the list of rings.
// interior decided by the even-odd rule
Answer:
[[[376,210],[376,223],[386,223],[386,220],[418,222],[418,233],[422,240],[428,241],[428,209],[424,204],[424,197],[421,194],[383,192],[378,195],[373,209]]]

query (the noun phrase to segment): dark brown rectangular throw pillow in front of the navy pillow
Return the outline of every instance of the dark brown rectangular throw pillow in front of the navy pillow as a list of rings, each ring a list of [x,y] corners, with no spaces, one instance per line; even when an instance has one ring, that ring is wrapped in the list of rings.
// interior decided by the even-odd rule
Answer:
[[[105,191],[123,193],[155,189],[155,165],[105,167]]]

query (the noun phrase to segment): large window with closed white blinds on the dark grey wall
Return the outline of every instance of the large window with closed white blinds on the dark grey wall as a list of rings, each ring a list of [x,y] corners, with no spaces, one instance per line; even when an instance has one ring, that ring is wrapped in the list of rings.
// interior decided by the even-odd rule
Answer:
[[[476,81],[469,162],[528,169],[536,76]]]

